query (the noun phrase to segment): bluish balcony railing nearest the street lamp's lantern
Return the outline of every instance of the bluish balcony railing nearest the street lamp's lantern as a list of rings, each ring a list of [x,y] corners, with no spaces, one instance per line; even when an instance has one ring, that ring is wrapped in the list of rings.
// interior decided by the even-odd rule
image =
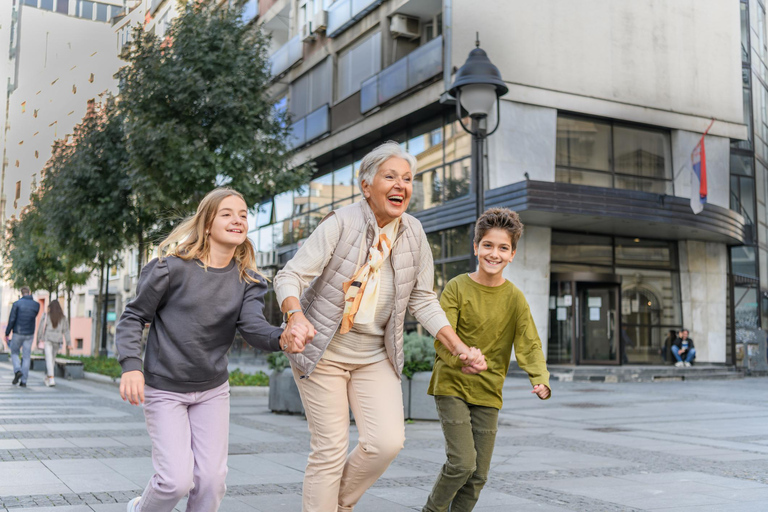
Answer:
[[[368,112],[443,71],[443,36],[436,37],[360,87],[360,112]]]

